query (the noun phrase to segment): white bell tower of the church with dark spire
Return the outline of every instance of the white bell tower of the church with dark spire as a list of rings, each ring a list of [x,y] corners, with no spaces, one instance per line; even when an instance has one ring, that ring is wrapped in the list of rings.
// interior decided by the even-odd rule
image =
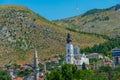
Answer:
[[[72,45],[72,39],[70,34],[68,33],[67,39],[66,39],[66,63],[67,64],[73,64],[74,63],[74,52],[73,52],[73,45]]]

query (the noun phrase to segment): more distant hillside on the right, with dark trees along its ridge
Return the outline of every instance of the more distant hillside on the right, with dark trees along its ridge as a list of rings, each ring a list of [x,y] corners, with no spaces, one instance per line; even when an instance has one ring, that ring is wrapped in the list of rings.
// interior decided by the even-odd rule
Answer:
[[[107,9],[93,9],[79,16],[53,22],[77,31],[119,37],[120,4]]]

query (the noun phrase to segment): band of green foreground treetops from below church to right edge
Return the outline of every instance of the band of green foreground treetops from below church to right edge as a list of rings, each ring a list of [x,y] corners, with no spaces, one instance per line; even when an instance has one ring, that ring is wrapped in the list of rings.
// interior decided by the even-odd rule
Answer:
[[[116,74],[118,73],[118,74]],[[61,69],[47,74],[47,80],[117,80],[120,79],[119,69],[101,67],[98,70],[78,70],[75,65],[65,64]]]

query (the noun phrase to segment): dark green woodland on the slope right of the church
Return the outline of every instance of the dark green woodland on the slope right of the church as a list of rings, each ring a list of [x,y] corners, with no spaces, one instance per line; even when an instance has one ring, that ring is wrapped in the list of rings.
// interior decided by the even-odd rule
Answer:
[[[103,53],[111,57],[111,50],[114,48],[120,48],[120,40],[113,39],[99,45],[94,45],[92,48],[86,47],[85,49],[81,49],[81,51],[86,53]]]

